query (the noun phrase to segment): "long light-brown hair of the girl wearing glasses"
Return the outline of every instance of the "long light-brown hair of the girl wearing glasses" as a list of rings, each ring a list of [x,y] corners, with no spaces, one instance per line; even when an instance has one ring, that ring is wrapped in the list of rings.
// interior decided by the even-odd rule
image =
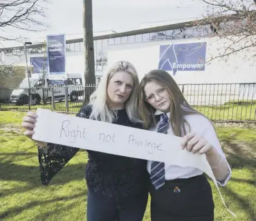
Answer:
[[[155,81],[157,84],[160,84],[167,89],[167,93],[171,98],[170,124],[174,135],[182,137],[188,133],[188,131],[186,131],[186,126],[188,126],[188,130],[190,131],[190,125],[184,119],[184,116],[203,114],[196,111],[190,104],[188,104],[181,89],[169,73],[165,70],[151,70],[140,81],[139,87],[138,110],[140,110],[140,119],[143,120],[145,129],[156,126],[159,120],[157,115],[154,115],[156,109],[145,101],[144,88],[145,85],[151,81]]]

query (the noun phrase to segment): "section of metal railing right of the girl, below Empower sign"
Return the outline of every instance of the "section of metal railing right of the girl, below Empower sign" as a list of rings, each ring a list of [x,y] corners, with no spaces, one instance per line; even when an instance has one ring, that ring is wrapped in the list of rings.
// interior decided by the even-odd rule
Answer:
[[[188,103],[218,122],[256,122],[256,83],[179,85]]]

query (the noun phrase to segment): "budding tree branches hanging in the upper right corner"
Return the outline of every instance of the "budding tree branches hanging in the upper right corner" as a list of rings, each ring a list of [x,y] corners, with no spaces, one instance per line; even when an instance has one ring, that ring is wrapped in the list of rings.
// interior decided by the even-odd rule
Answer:
[[[210,24],[209,36],[224,39],[226,44],[219,55],[210,57],[227,61],[231,55],[244,52],[243,59],[256,58],[255,0],[200,0],[207,5],[206,16],[194,21],[197,27]]]

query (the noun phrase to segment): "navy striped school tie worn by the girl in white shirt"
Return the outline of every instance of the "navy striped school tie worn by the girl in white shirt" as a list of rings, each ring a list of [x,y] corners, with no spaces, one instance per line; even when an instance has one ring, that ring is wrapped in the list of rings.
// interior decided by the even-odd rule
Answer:
[[[163,120],[158,126],[158,133],[167,134],[167,130],[170,126],[169,118],[166,113],[162,114]],[[150,171],[150,180],[155,186],[156,190],[160,189],[165,184],[165,163],[152,161],[151,171]]]

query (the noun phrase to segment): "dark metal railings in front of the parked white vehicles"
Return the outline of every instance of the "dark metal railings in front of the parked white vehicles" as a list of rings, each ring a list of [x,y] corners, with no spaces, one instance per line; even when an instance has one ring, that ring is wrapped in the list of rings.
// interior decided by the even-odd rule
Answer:
[[[53,86],[38,88],[0,88],[0,111],[36,111],[47,108],[60,113],[77,113],[95,86]],[[30,94],[30,96],[28,96]]]

